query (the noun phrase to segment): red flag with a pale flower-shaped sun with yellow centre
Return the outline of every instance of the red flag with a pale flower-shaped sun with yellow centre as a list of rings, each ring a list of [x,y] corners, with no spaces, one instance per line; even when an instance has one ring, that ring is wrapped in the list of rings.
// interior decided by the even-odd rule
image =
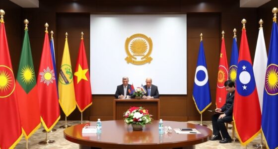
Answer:
[[[56,77],[50,52],[48,31],[45,31],[44,44],[37,77],[37,87],[41,111],[41,122],[49,132],[60,119],[60,107]]]

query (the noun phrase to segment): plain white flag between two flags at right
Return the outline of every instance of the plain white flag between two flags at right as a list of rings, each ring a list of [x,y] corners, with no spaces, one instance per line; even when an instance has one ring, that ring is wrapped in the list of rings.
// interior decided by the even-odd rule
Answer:
[[[264,38],[263,27],[259,29],[259,35],[257,40],[257,47],[254,58],[254,76],[256,81],[256,86],[259,95],[259,101],[261,106],[261,112],[263,109],[263,96],[264,96],[264,85],[265,85],[265,76],[268,64],[267,49]]]

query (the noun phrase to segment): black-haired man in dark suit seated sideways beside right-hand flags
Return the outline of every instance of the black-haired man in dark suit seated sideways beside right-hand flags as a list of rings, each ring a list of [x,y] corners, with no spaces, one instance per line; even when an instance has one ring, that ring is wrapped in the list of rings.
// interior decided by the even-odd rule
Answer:
[[[234,105],[234,92],[235,92],[235,84],[231,80],[227,80],[224,83],[227,93],[226,103],[221,108],[216,108],[216,112],[224,112],[224,114],[214,114],[212,115],[212,128],[213,135],[210,140],[221,140],[219,143],[231,143],[232,139],[229,136],[227,129],[225,127],[225,122],[233,121],[233,105]],[[222,134],[222,137],[219,133]]]

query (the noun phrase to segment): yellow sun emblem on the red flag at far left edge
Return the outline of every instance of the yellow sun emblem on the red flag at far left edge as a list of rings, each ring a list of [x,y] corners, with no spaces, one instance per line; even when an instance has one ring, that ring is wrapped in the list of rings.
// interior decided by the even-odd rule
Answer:
[[[15,88],[15,80],[12,70],[4,65],[0,65],[0,98],[11,95]]]

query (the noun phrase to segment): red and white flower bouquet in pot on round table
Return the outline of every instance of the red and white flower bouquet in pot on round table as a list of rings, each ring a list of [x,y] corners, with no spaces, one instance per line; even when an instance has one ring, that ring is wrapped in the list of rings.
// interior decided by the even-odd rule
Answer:
[[[142,130],[146,124],[150,124],[151,116],[148,110],[142,107],[131,107],[124,113],[125,122],[128,125],[132,124],[133,130]]]

